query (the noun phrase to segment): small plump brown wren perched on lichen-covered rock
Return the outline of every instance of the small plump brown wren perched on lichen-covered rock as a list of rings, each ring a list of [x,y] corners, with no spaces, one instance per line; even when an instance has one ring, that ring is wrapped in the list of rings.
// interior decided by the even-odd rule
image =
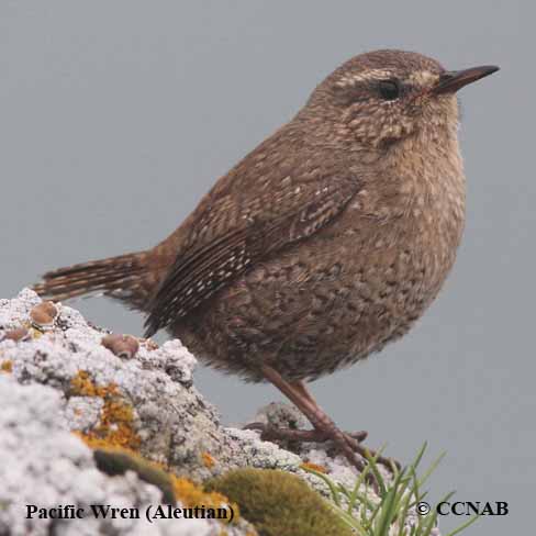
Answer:
[[[121,300],[146,314],[146,337],[166,330],[216,369],[272,383],[312,428],[265,436],[331,439],[362,471],[366,432],[343,432],[308,382],[399,339],[436,298],[466,214],[457,91],[496,70],[357,55],[163,242],[48,271],[34,289]]]

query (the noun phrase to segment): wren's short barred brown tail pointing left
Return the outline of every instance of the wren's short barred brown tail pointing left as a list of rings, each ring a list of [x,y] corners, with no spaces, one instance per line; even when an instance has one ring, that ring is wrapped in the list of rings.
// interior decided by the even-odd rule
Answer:
[[[54,301],[85,294],[104,294],[143,309],[149,293],[149,252],[92,260],[48,271],[33,289]]]

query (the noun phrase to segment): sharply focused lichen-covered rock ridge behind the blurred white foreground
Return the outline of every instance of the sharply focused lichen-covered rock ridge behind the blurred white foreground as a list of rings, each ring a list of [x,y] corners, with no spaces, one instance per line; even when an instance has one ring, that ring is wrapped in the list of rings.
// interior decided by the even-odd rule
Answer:
[[[31,290],[0,303],[0,333],[31,327],[40,304]],[[91,446],[121,446],[194,481],[254,465],[294,468],[301,459],[255,433],[220,426],[214,407],[192,384],[194,357],[170,340],[160,347],[141,339],[131,359],[101,345],[108,333],[90,326],[60,303],[54,326],[27,340],[0,343],[0,364],[10,361],[21,383],[42,383],[63,393],[63,418]],[[211,464],[206,464],[206,456]],[[209,467],[210,466],[210,467]]]

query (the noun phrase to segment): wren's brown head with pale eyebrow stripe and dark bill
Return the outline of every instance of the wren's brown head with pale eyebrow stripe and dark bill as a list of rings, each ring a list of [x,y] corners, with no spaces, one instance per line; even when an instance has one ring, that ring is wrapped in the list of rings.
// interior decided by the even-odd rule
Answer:
[[[498,69],[481,66],[450,71],[416,53],[370,52],[332,72],[303,111],[328,123],[330,136],[378,149],[418,132],[455,134],[456,92]]]

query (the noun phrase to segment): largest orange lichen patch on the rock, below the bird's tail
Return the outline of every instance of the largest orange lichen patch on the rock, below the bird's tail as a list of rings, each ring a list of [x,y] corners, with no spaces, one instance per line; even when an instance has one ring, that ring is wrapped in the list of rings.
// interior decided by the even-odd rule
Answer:
[[[123,447],[131,451],[139,448],[142,439],[133,426],[134,410],[121,398],[115,383],[97,386],[87,370],[79,370],[70,381],[70,389],[71,395],[98,397],[104,402],[99,424],[78,433],[89,447]]]

